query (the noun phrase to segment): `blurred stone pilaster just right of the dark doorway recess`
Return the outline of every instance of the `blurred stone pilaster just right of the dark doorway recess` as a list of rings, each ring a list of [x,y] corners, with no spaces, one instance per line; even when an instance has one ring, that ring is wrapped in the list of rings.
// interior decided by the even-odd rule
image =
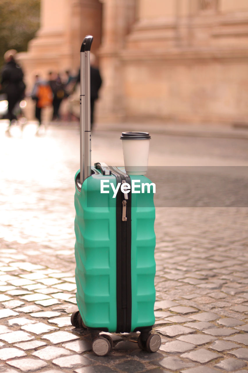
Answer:
[[[120,122],[124,118],[123,69],[120,53],[134,21],[134,0],[101,0],[103,3],[102,45],[99,49],[103,75],[98,112],[101,121]]]

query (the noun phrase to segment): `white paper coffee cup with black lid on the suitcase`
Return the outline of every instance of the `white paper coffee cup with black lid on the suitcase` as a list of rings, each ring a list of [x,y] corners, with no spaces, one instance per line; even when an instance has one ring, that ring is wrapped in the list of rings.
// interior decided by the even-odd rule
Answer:
[[[150,138],[148,132],[122,132],[123,157],[128,175],[146,175]]]

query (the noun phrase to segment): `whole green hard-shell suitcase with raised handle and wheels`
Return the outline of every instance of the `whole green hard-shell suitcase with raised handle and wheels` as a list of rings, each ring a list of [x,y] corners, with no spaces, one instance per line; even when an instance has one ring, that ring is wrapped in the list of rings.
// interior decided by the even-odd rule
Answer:
[[[128,192],[117,185],[150,184],[145,176],[129,176],[124,167],[95,163],[91,167],[89,63],[93,37],[80,50],[80,170],[75,176],[75,258],[77,305],[73,326],[87,328],[92,349],[106,355],[113,343],[99,332],[140,332],[138,345],[158,351],[155,322],[155,207],[153,192]],[[138,182],[139,181],[139,182]],[[113,185],[103,191],[102,184]],[[118,184],[120,183],[120,184]],[[107,187],[105,188],[107,189]],[[123,191],[122,191],[122,190]],[[145,186],[144,186],[145,191]],[[114,198],[113,198],[114,197]]]

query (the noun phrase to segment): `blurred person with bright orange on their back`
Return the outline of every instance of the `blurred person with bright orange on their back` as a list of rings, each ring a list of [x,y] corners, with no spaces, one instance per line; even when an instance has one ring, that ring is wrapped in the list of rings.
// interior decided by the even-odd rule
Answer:
[[[53,92],[51,90],[50,84],[40,78],[38,74],[35,75],[35,83],[31,93],[31,97],[36,101],[35,104],[35,117],[38,120],[38,130],[41,126],[41,115],[42,109],[51,106],[53,102]]]

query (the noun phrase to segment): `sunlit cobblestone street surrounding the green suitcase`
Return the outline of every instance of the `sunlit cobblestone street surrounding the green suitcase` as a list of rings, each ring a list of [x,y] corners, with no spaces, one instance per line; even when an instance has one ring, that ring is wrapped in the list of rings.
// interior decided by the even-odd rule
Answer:
[[[150,128],[152,166],[248,166],[247,132],[161,128]],[[128,129],[93,133],[92,164],[123,164]],[[0,372],[248,373],[248,207],[156,207],[162,345],[149,354],[137,333],[111,335],[114,348],[97,357],[89,333],[70,322],[77,125],[39,137],[32,123],[10,138],[4,131],[0,121]]]

